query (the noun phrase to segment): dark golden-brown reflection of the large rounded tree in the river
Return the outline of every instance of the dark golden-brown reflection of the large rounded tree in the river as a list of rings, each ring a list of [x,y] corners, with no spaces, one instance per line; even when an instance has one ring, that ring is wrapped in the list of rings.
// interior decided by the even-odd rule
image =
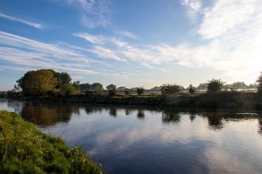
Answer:
[[[22,118],[39,126],[53,125],[57,122],[69,122],[72,113],[78,113],[78,108],[66,105],[46,105],[25,103],[22,108]]]

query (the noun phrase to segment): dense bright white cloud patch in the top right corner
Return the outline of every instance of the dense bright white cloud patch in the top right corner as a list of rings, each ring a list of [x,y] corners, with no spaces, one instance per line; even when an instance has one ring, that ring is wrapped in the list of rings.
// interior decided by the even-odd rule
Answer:
[[[261,1],[259,0],[219,0],[206,8],[198,33],[202,38],[217,38],[246,30],[255,20],[259,20]],[[259,21],[257,21],[259,22]]]

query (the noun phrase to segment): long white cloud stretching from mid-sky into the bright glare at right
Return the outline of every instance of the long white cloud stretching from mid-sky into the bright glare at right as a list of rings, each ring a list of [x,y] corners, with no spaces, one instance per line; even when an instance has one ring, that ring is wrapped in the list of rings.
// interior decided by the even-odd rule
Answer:
[[[91,41],[94,45],[90,52],[106,59],[136,61],[147,68],[157,68],[160,64],[179,64],[186,67],[214,68],[223,72],[227,78],[254,76],[261,71],[259,65],[262,63],[261,6],[262,1],[258,0],[214,1],[212,6],[203,11],[202,22],[196,29],[195,34],[200,34],[200,41],[209,38],[209,42],[202,45],[136,45],[119,38],[92,35],[99,38],[97,41],[102,41],[97,43],[103,44],[97,45]],[[235,15],[232,17],[230,14]],[[221,19],[226,17],[231,19],[222,22]],[[86,40],[90,41],[90,38]]]

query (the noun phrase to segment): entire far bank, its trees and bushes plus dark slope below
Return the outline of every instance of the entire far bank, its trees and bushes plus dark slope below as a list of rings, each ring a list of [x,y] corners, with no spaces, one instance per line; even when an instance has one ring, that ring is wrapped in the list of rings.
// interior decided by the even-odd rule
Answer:
[[[142,105],[142,106],[172,106],[190,108],[221,108],[221,109],[262,109],[262,73],[256,80],[257,84],[249,85],[257,88],[257,92],[238,92],[242,87],[247,89],[244,82],[235,82],[226,85],[220,79],[208,80],[199,86],[207,92],[196,92],[196,87],[189,85],[188,93],[181,92],[184,87],[174,84],[163,84],[158,88],[161,94],[144,94],[144,87],[126,89],[119,87],[124,92],[117,94],[116,85],[108,85],[107,90],[103,85],[95,82],[92,85],[79,81],[71,82],[68,73],[57,73],[50,69],[28,71],[17,81],[14,92],[9,92],[11,99],[73,102],[73,103],[99,103],[117,105]],[[22,92],[18,92],[22,89]],[[137,92],[137,95],[130,94]],[[185,91],[185,90],[184,90]]]

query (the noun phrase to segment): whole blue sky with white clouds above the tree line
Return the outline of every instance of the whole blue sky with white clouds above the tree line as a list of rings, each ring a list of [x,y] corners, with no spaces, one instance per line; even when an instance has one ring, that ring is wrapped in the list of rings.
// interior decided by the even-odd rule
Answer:
[[[0,91],[51,68],[106,87],[256,82],[261,0],[1,0]]]

